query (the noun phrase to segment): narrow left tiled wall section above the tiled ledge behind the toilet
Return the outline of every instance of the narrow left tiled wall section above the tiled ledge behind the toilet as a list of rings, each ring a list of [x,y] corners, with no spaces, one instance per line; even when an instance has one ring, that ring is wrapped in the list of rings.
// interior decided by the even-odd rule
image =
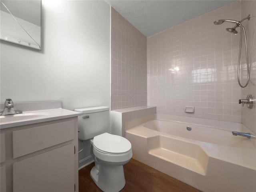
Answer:
[[[111,110],[147,105],[146,41],[111,8]]]

